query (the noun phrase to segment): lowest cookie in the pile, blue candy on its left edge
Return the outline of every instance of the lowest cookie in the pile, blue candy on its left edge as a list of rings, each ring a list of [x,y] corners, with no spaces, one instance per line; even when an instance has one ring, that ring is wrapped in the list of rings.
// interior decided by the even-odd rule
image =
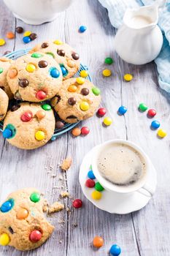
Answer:
[[[51,106],[39,103],[13,105],[4,118],[3,136],[18,148],[44,146],[53,135],[55,116]]]

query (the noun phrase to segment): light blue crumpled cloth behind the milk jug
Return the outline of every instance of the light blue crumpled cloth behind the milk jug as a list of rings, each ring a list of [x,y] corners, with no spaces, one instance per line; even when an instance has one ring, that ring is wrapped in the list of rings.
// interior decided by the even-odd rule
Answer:
[[[127,8],[153,4],[154,0],[98,0],[107,8],[110,22],[115,28],[119,28],[123,22],[123,15]],[[163,0],[158,0],[163,1]],[[158,81],[161,89],[170,93],[170,0],[159,13],[158,25],[163,32],[163,48],[155,59],[158,69]]]

